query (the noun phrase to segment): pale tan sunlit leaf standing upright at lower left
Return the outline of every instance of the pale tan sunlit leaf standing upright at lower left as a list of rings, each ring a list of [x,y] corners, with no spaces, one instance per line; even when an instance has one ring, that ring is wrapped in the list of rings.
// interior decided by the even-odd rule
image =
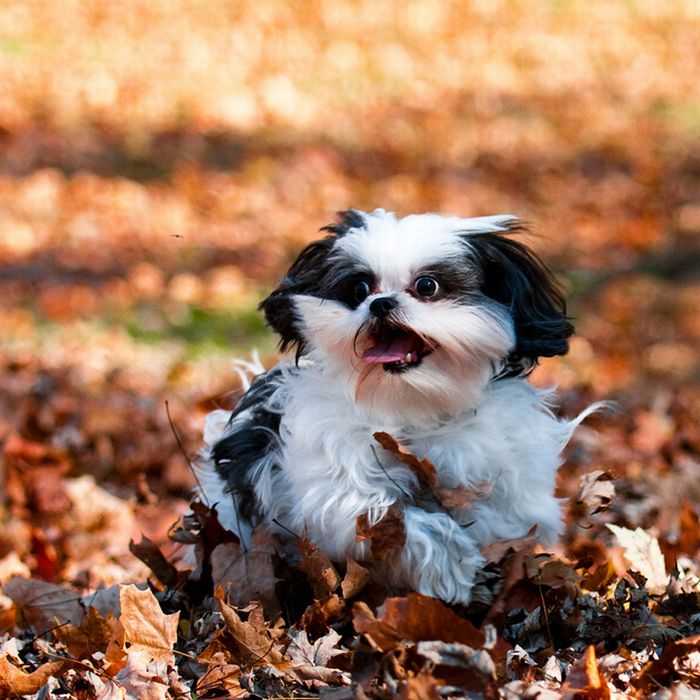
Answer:
[[[119,599],[119,621],[129,654],[140,651],[150,659],[174,663],[173,646],[180,613],[164,614],[153,593],[136,586],[121,586]]]

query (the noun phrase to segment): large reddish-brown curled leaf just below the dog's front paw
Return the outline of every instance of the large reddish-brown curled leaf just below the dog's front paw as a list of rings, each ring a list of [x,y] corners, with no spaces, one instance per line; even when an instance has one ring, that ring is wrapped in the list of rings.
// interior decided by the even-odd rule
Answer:
[[[376,617],[366,603],[353,606],[355,630],[389,651],[403,640],[460,642],[474,649],[484,644],[484,633],[459,617],[444,603],[419,593],[405,598],[387,598]]]

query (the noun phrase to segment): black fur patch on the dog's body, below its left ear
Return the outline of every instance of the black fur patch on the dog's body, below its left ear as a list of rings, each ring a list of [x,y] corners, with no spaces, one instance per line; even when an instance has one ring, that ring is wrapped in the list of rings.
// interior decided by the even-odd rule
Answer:
[[[229,425],[244,413],[249,416],[235,423],[235,429],[219,440],[212,449],[212,459],[219,475],[237,496],[238,515],[252,524],[260,521],[251,471],[263,456],[277,448],[280,415],[265,404],[279,385],[281,371],[272,369],[258,376],[229,419]]]

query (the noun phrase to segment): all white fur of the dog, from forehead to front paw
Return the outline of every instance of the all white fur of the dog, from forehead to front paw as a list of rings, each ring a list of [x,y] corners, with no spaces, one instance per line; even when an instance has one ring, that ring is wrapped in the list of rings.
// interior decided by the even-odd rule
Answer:
[[[426,303],[410,293],[423,266],[463,253],[456,231],[503,231],[512,217],[397,221],[382,210],[365,216],[367,227],[339,238],[336,248],[369,266],[379,289],[354,310],[331,299],[294,298],[308,357],[298,367],[279,365],[283,371],[267,401],[281,415],[279,437],[253,467],[255,494],[270,527],[283,537],[306,536],[339,561],[370,556],[368,544],[356,538],[358,516],[377,522],[400,503],[406,545],[386,564],[385,578],[467,603],[483,564],[479,546],[521,537],[533,525],[543,541],[560,534],[556,470],[588,412],[560,420],[550,410],[551,392],[523,378],[493,381],[515,342],[505,308],[489,300]],[[363,331],[369,304],[385,294],[400,301],[406,325],[437,341],[419,366],[401,374],[361,359],[371,344]],[[207,444],[247,417],[224,425],[215,412]],[[426,508],[414,498],[416,475],[377,444],[377,431],[429,458],[440,487],[489,484],[490,494],[463,511]],[[199,478],[209,501],[218,504],[222,524],[249,544],[250,526],[240,521],[240,508],[211,461],[203,463]]]

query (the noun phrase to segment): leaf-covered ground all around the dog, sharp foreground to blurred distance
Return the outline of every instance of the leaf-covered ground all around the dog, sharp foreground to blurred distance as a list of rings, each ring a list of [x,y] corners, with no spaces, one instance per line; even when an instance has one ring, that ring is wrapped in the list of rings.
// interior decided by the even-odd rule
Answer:
[[[0,8],[0,697],[700,697],[698,31],[690,0]],[[274,361],[257,302],[351,206],[531,222],[579,333],[533,381],[617,402],[561,544],[490,547],[467,608],[190,503],[231,359]],[[400,518],[358,535],[390,556]]]

